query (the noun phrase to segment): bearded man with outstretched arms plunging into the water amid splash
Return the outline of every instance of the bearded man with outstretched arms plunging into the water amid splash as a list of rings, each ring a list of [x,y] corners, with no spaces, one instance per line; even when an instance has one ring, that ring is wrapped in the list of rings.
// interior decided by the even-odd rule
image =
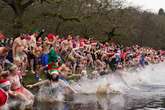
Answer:
[[[47,80],[27,85],[29,88],[44,85],[40,88],[38,99],[54,102],[64,101],[64,94],[77,93],[67,82],[59,78],[58,70],[51,70]]]

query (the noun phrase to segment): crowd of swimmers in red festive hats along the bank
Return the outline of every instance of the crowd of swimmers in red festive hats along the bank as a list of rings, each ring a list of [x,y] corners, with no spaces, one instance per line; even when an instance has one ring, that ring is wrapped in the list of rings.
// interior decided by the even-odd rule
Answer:
[[[41,37],[37,31],[15,39],[0,34],[0,40],[0,108],[8,97],[33,105],[34,95],[22,85],[23,77],[29,73],[38,81],[28,85],[29,88],[45,83],[59,84],[76,93],[67,82],[70,75],[95,78],[130,67],[143,68],[163,62],[165,58],[164,51],[153,48],[124,47],[72,35],[60,38],[52,33]],[[46,74],[47,80],[41,79],[40,74]]]

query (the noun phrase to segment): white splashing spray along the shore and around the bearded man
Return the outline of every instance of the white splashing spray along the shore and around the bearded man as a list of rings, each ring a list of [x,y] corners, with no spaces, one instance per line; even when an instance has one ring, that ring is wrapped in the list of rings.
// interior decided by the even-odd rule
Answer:
[[[71,86],[79,94],[109,94],[109,93],[128,93],[130,91],[149,91],[152,87],[165,87],[165,63],[149,65],[145,68],[134,70],[123,70],[115,73],[99,76],[96,79],[83,78]],[[147,89],[145,88],[147,87]],[[159,88],[159,89],[160,89]],[[156,88],[157,89],[157,88]],[[163,91],[165,93],[165,91]],[[41,86],[37,99],[39,101],[64,101],[64,89],[57,86]]]

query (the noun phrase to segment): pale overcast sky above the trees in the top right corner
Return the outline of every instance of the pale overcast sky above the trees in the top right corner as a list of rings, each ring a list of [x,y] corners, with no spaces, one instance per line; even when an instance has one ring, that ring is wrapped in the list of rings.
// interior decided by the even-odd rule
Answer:
[[[165,0],[127,0],[131,6],[141,6],[145,10],[158,12],[160,8],[165,9]]]

